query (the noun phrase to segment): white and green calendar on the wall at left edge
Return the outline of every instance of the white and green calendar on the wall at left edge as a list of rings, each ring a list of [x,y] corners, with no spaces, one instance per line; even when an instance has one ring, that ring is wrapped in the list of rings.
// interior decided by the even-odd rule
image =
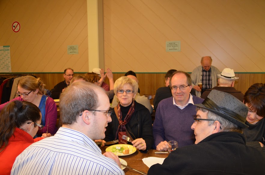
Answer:
[[[10,46],[0,46],[0,72],[11,72]]]

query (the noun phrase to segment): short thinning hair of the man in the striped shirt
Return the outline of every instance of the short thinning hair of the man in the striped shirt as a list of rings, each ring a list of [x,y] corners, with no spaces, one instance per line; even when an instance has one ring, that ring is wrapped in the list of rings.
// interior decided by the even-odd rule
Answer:
[[[60,120],[64,125],[77,122],[79,114],[85,110],[96,110],[99,106],[98,93],[102,88],[89,82],[74,82],[60,95]]]

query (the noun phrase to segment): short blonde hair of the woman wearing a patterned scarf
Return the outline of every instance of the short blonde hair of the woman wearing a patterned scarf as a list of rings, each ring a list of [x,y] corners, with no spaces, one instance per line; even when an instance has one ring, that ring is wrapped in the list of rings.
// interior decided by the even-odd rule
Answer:
[[[114,83],[114,93],[115,95],[117,95],[117,90],[122,88],[125,84],[129,84],[132,86],[132,90],[134,91],[133,94],[135,95],[138,92],[138,83],[133,80],[130,79],[127,76],[122,76],[120,78],[118,78],[115,83]]]

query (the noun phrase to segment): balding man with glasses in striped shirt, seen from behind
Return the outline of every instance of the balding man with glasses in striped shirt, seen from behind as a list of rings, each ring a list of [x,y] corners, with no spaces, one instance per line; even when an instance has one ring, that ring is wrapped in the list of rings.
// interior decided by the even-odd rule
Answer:
[[[102,155],[93,141],[105,138],[111,122],[104,89],[74,82],[61,94],[59,107],[62,127],[21,153],[11,174],[124,174],[118,156]]]

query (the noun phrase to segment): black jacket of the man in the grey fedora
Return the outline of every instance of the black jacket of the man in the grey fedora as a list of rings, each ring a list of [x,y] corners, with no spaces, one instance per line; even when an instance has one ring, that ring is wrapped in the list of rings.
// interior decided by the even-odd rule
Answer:
[[[245,146],[238,132],[212,134],[198,144],[172,151],[163,164],[150,167],[149,174],[265,174],[265,156]]]

